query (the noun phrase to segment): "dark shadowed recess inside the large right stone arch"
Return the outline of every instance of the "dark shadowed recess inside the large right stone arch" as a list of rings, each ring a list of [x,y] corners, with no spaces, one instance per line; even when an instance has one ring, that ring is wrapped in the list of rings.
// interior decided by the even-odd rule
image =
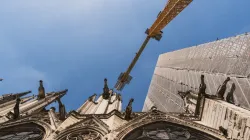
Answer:
[[[219,140],[205,132],[170,123],[155,121],[142,125],[122,138],[122,140]]]

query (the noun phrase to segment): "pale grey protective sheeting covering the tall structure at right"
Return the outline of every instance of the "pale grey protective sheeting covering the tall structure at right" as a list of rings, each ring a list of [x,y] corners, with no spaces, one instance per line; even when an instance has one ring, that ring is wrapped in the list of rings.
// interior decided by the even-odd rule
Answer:
[[[236,104],[250,108],[250,35],[243,34],[159,56],[143,111],[155,105],[162,111],[184,111],[177,91],[198,91],[205,75],[206,93],[216,94],[226,77],[235,83]]]

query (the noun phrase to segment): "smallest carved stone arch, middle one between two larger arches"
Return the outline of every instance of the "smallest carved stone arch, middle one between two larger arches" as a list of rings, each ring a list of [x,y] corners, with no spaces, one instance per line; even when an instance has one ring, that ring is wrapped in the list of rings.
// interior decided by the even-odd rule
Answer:
[[[103,129],[94,127],[94,126],[82,126],[82,127],[74,127],[71,129],[66,129],[65,131],[61,132],[59,136],[56,137],[56,140],[70,140],[67,139],[70,135],[80,136],[80,135],[86,135],[90,136],[89,134],[93,134],[93,137],[100,138],[100,140],[103,139],[103,137],[107,134]],[[94,136],[95,135],[95,136]],[[99,140],[96,138],[96,140]],[[83,139],[85,140],[85,139]]]

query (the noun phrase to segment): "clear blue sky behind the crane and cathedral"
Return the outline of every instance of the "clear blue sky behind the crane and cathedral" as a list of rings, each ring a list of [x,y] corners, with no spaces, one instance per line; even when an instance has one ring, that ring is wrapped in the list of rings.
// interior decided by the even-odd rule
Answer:
[[[112,88],[127,69],[166,0],[2,0],[1,94],[69,89],[62,101],[77,109],[103,79]],[[123,108],[141,111],[159,54],[250,31],[249,0],[194,0],[151,40],[122,91]],[[53,104],[56,105],[57,104]]]

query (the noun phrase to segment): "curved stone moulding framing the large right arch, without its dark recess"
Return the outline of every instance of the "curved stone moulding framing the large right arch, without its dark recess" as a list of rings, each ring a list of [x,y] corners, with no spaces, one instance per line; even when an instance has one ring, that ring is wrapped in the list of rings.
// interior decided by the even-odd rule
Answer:
[[[149,113],[138,120],[133,120],[132,123],[128,123],[124,128],[117,129],[118,134],[116,135],[116,140],[129,140],[129,135],[133,134],[135,131],[155,123],[169,124],[176,127],[184,128],[184,130],[186,129],[191,130],[192,132],[206,134],[207,137],[211,140],[225,139],[221,136],[221,133],[218,130],[208,128],[195,122],[178,119],[171,115],[156,111]]]

